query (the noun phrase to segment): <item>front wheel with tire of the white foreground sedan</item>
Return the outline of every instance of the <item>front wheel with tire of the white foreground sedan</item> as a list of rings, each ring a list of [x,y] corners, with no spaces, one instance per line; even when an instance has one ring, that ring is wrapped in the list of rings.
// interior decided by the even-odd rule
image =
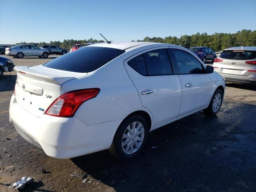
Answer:
[[[218,98],[220,98],[219,101],[218,101]],[[208,108],[204,109],[204,113],[209,115],[216,115],[220,110],[222,101],[223,101],[223,93],[220,89],[217,89],[212,96],[212,99],[210,101]]]

